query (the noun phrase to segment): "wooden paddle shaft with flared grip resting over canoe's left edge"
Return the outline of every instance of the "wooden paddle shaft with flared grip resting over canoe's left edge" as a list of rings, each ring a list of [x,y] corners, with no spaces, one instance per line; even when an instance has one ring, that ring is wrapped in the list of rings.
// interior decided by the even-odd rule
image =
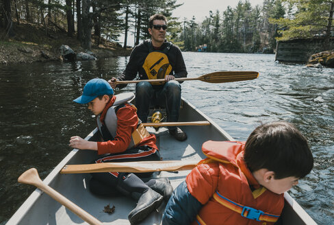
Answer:
[[[88,222],[88,224],[102,224],[97,218],[93,217],[84,209],[81,209],[79,206],[62,196],[60,193],[49,187],[48,185],[45,185],[42,180],[40,180],[40,176],[38,176],[38,171],[35,168],[28,169],[25,171],[21,176],[18,178],[18,182],[22,184],[27,185],[34,185],[35,187],[38,187],[45,193],[47,193],[51,198],[56,200],[57,202],[60,202],[60,204],[66,206],[70,211],[75,213],[77,216],[79,216],[82,220]]]

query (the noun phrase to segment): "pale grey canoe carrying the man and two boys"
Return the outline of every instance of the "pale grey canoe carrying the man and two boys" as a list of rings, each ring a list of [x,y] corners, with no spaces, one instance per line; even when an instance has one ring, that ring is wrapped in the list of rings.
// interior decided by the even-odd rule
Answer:
[[[148,128],[149,132],[157,136],[157,145],[165,161],[200,161],[205,158],[201,146],[205,141],[233,141],[212,119],[196,109],[190,102],[182,99],[179,121],[209,121],[209,126],[183,126],[188,139],[183,142],[176,141],[168,134],[166,128]],[[99,132],[93,130],[86,139],[96,140]],[[65,165],[91,163],[97,154],[90,150],[72,150],[56,167],[44,183],[61,193],[82,209],[96,217],[103,224],[129,224],[127,215],[136,206],[136,202],[124,196],[105,198],[94,196],[88,190],[90,174],[60,174]],[[178,172],[155,172],[156,177],[168,177],[175,188],[189,173],[190,170]],[[280,224],[316,224],[303,208],[288,194],[284,194],[285,206]],[[105,213],[105,206],[115,206],[114,213]],[[160,224],[166,203],[162,203],[157,211],[151,213],[141,224]],[[60,203],[36,189],[22,206],[12,215],[7,223],[12,224],[87,224],[77,215],[66,209]]]

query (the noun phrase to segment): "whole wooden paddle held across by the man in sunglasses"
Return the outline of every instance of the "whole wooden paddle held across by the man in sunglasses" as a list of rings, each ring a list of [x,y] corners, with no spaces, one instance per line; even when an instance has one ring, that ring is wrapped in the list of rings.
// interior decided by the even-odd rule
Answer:
[[[259,77],[258,72],[254,71],[218,71],[214,73],[208,73],[201,75],[197,78],[175,78],[177,81],[185,80],[201,80],[207,83],[224,83],[224,82],[235,82],[242,80],[253,80]],[[142,81],[146,82],[166,82],[164,79],[155,79],[155,80],[122,80],[116,81],[114,84],[130,84],[130,83],[139,83]]]

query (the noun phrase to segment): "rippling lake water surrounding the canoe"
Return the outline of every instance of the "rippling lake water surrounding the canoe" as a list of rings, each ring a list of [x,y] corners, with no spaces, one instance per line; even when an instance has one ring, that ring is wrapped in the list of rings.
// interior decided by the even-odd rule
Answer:
[[[214,71],[258,71],[257,80],[209,84],[183,82],[182,95],[237,141],[260,122],[285,119],[305,134],[315,165],[290,194],[318,224],[334,224],[334,69],[279,64],[274,55],[183,53],[188,77]],[[34,187],[18,176],[31,167],[40,177],[70,152],[73,135],[85,137],[95,121],[73,99],[92,78],[112,78],[128,57],[94,62],[0,66],[0,224]],[[123,91],[133,91],[134,84]]]

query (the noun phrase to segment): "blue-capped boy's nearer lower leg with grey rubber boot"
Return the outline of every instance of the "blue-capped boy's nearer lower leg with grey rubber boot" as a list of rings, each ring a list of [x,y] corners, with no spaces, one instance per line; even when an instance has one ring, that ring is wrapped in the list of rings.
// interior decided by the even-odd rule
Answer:
[[[128,216],[131,224],[142,222],[164,200],[162,195],[153,191],[135,174],[120,173],[116,189],[125,196],[131,196],[134,200],[138,200],[136,208]]]

